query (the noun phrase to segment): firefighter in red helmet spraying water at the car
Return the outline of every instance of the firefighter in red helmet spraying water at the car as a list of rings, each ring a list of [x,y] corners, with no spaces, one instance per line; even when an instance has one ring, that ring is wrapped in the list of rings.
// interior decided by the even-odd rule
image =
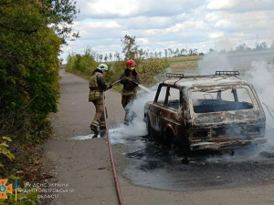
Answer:
[[[124,124],[128,125],[134,118],[136,113],[131,109],[132,102],[136,97],[138,85],[140,84],[140,77],[135,70],[136,64],[131,59],[126,64],[127,68],[121,73],[121,105],[125,110]]]

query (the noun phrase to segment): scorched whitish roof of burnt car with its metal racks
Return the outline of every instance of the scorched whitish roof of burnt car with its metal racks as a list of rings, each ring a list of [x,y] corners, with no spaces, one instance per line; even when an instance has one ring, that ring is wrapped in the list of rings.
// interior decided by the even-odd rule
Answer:
[[[219,73],[220,72],[220,73]],[[168,73],[164,84],[176,85],[179,87],[205,87],[216,85],[250,85],[246,80],[238,77],[238,71],[216,71],[215,75],[208,76],[184,76],[184,74]]]

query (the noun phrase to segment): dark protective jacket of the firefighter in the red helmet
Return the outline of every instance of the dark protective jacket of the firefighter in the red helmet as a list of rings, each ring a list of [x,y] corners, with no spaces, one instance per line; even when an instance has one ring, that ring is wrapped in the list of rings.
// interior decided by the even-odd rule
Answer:
[[[136,87],[138,85],[131,80],[134,80],[138,84],[140,84],[140,76],[139,73],[135,70],[130,70],[129,68],[126,68],[122,73],[120,79],[128,79],[124,81],[122,90],[121,90],[121,95],[122,96],[136,96]]]

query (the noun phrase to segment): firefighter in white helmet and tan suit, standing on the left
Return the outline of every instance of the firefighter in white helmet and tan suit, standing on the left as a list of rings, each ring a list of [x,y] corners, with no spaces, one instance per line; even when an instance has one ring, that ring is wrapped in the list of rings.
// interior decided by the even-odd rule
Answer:
[[[103,92],[110,89],[107,86],[104,76],[108,72],[109,67],[105,64],[100,64],[90,77],[90,95],[89,101],[92,102],[96,108],[96,114],[90,124],[90,128],[94,133],[99,133],[106,128],[103,108]]]

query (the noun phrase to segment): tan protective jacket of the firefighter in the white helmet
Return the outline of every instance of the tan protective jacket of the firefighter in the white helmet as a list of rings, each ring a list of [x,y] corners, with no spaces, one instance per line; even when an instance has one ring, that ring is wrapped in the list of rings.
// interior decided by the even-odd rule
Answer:
[[[89,101],[102,97],[102,91],[107,90],[107,85],[103,75],[100,72],[94,72],[90,77],[90,95]]]

